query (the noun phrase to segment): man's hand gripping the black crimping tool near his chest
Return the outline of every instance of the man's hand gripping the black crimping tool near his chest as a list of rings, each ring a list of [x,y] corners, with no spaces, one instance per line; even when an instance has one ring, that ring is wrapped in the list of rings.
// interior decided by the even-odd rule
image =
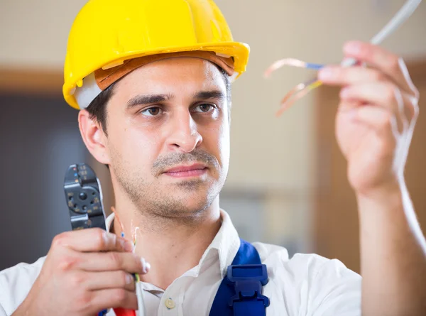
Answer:
[[[102,229],[68,231],[53,239],[40,275],[18,315],[97,315],[138,307],[131,273],[146,273],[133,246]]]

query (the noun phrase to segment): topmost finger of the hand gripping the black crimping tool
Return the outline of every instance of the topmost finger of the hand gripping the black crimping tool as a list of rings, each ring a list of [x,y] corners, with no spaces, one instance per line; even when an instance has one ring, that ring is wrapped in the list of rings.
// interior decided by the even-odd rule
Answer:
[[[100,228],[66,231],[55,236],[52,246],[66,246],[75,251],[82,252],[132,251],[133,249],[130,241]]]

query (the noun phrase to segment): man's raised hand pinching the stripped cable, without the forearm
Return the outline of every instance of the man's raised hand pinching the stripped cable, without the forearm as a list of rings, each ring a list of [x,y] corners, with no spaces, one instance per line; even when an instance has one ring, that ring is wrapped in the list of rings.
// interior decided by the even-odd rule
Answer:
[[[361,42],[347,43],[344,53],[368,67],[326,67],[319,79],[343,87],[336,135],[349,182],[368,197],[400,190],[419,92],[397,55]]]

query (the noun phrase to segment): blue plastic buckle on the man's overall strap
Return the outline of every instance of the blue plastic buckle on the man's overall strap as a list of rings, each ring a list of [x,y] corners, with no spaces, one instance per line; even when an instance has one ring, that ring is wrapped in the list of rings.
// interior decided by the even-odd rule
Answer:
[[[235,295],[230,298],[229,306],[244,301],[263,301],[269,306],[269,298],[262,295],[262,286],[268,283],[268,271],[264,264],[243,264],[228,266],[228,280],[234,283]]]

